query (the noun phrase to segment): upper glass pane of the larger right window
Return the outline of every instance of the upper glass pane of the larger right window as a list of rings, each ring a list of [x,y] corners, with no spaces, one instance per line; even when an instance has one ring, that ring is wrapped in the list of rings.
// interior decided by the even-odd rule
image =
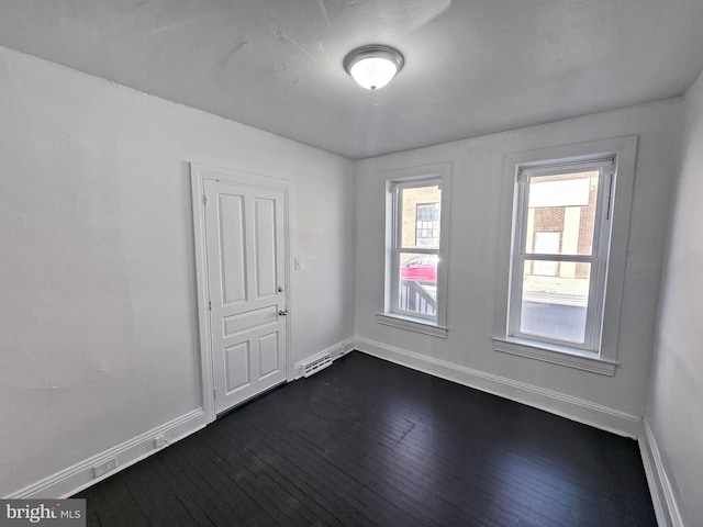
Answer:
[[[591,255],[600,171],[529,178],[525,253]]]

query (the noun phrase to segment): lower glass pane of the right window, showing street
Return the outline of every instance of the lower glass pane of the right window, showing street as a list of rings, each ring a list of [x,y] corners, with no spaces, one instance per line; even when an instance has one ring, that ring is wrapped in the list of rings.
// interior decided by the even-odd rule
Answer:
[[[591,264],[525,260],[520,332],[583,344]]]

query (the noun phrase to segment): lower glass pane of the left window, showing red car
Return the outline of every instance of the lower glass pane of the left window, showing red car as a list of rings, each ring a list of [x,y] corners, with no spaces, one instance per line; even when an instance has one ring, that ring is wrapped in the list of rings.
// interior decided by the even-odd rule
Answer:
[[[401,253],[398,307],[410,313],[436,316],[437,255]]]

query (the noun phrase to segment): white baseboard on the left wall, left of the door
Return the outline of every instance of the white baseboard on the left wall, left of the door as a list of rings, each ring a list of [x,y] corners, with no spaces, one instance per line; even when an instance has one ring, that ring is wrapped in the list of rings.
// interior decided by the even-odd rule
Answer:
[[[64,498],[71,496],[77,492],[111,476],[115,472],[133,466],[157,450],[166,448],[155,447],[154,439],[156,436],[164,435],[168,444],[174,444],[179,439],[204,428],[205,425],[207,418],[203,408],[194,410],[186,415],[165,423],[164,425],[145,431],[133,439],[124,441],[121,445],[80,461],[72,467],[56,472],[55,474],[5,497],[26,500],[51,497]],[[116,459],[116,468],[98,478],[93,478],[93,467],[107,463],[111,459]]]

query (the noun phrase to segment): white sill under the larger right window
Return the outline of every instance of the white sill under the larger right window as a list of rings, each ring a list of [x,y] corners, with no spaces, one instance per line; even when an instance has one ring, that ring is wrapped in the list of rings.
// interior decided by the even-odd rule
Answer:
[[[609,377],[615,375],[615,367],[617,366],[616,362],[598,358],[594,354],[580,349],[521,338],[493,337],[493,349],[503,354],[517,355]]]

